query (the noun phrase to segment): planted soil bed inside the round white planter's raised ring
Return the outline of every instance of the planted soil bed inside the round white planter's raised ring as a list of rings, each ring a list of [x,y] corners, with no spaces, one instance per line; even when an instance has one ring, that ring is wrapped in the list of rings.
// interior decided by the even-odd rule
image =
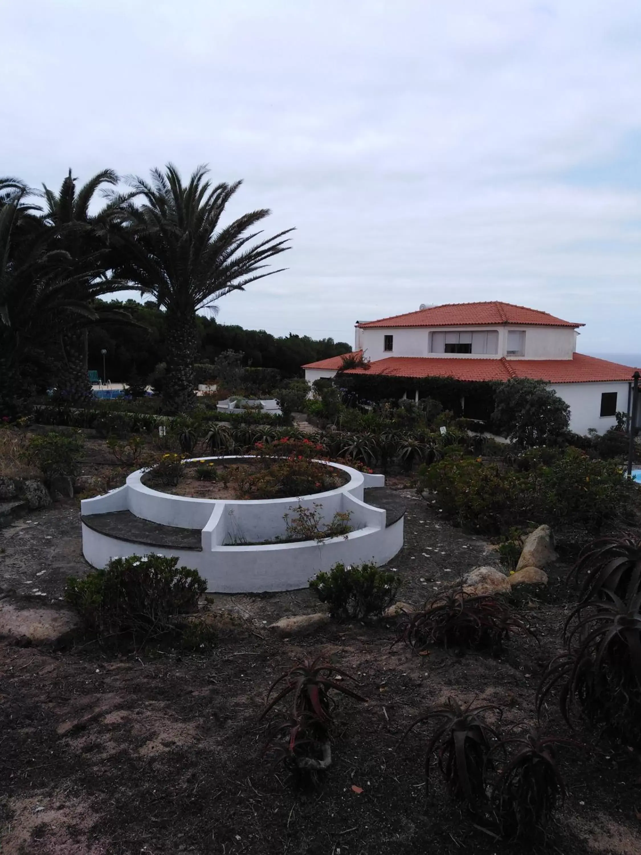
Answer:
[[[290,471],[285,471],[289,469]],[[151,469],[142,477],[144,486],[173,496],[211,499],[295,498],[334,490],[349,481],[340,469],[309,461],[236,458],[229,462],[185,463],[176,484],[168,484]],[[288,494],[287,486],[299,484],[300,492]]]

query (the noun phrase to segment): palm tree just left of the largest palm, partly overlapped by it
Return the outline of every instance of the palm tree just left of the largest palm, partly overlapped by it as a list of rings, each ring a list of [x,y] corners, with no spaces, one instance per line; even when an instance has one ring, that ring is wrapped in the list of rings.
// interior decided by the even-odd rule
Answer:
[[[104,313],[87,312],[88,304],[94,297],[126,287],[121,280],[109,275],[115,262],[115,230],[123,216],[122,205],[129,197],[109,192],[105,186],[115,187],[119,180],[113,169],[103,169],[78,189],[77,179],[69,169],[60,192],[55,193],[43,186],[43,221],[55,230],[56,245],[84,268],[88,266],[97,271],[96,280],[88,282],[80,277],[74,281],[73,289],[70,282],[66,289],[66,298],[85,307],[85,311],[78,312],[78,322],[62,327],[56,348],[57,395],[71,403],[91,399],[91,383],[87,375],[87,323],[105,320]],[[107,202],[91,214],[90,207],[98,191],[103,192]]]

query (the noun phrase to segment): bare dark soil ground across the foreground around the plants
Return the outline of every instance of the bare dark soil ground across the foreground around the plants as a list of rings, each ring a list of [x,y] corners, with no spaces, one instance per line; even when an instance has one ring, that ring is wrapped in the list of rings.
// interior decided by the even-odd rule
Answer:
[[[485,540],[406,497],[405,547],[391,567],[403,578],[399,598],[420,604],[492,555]],[[72,501],[0,532],[0,548],[0,594],[13,590],[25,603],[59,604],[66,577],[88,569]],[[426,809],[425,730],[400,741],[420,711],[448,697],[498,704],[505,722],[533,723],[534,691],[566,615],[565,569],[553,570],[545,601],[519,605],[540,645],[517,638],[498,658],[438,649],[419,657],[391,646],[394,622],[274,637],[268,623],[319,610],[308,591],[216,596],[220,640],[202,655],[0,641],[0,852],[638,855],[641,764],[626,746],[573,734],[591,747],[562,752],[569,795],[559,823],[547,840],[517,845],[480,829],[439,782]],[[339,700],[332,767],[318,792],[301,794],[262,759],[257,718],[291,660],[321,652],[356,675],[369,702]],[[546,732],[568,735],[551,705],[548,715]]]

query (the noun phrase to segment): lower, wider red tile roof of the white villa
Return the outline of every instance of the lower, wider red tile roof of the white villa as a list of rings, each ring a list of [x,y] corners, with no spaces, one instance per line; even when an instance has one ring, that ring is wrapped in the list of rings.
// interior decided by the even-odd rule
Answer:
[[[325,360],[326,361],[326,360]],[[312,363],[316,368],[320,363]],[[369,369],[346,374],[389,374],[392,377],[454,377],[456,380],[509,380],[529,377],[548,383],[595,383],[632,380],[636,369],[575,353],[572,359],[467,359],[461,357],[388,357]]]

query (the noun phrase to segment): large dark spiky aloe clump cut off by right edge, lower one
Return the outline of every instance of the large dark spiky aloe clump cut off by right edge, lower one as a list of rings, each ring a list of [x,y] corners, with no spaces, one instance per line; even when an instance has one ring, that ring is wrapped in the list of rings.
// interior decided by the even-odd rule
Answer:
[[[570,723],[579,710],[592,725],[626,745],[641,747],[641,593],[626,600],[601,588],[603,601],[579,603],[563,633],[565,652],[550,662],[537,693],[537,710],[557,685]]]

